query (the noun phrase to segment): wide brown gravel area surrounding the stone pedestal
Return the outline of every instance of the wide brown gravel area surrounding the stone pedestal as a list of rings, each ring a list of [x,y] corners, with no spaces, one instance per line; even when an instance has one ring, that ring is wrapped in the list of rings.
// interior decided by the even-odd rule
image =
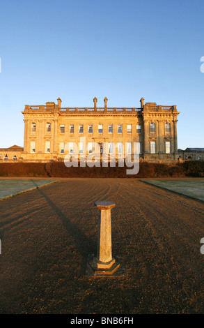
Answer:
[[[86,276],[111,200],[125,276]],[[204,313],[204,204],[133,179],[59,179],[0,202],[0,313]]]

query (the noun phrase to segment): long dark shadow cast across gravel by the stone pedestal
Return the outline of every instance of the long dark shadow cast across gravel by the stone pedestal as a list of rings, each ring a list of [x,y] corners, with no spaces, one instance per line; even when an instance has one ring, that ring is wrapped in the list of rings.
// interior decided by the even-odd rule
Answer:
[[[33,180],[32,180],[33,181]],[[90,253],[95,253],[97,245],[93,242],[93,240],[89,239],[84,232],[82,232],[79,227],[74,225],[65,214],[59,209],[52,200],[43,193],[41,188],[38,188],[36,185],[35,181],[33,181],[33,184],[36,186],[36,189],[39,191],[39,193],[45,198],[47,203],[54,209],[55,213],[57,214],[58,218],[62,221],[65,229],[68,231],[69,234],[74,239],[75,246],[79,253],[82,255],[82,260],[81,260],[81,271],[80,274],[84,274],[86,271],[86,264],[87,264],[87,259],[88,259],[88,254]],[[72,209],[74,211],[74,209]]]

